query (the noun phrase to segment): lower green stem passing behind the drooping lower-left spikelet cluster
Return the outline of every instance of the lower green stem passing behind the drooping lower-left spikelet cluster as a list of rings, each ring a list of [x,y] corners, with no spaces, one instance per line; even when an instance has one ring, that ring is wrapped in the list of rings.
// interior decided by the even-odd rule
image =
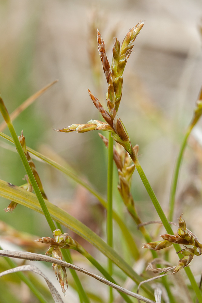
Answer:
[[[61,230],[61,233],[64,234],[63,232],[63,229],[60,225],[59,222],[56,222],[56,225],[57,227]],[[70,251],[67,250],[67,249],[62,249],[62,255],[64,256],[65,258],[65,261],[68,262],[68,263],[71,263],[73,264],[73,261],[72,261],[72,258],[71,258],[71,254],[70,254]],[[79,300],[81,303],[90,303],[87,295],[86,295],[86,292],[84,291],[83,289],[83,286],[81,284],[81,281],[76,273],[76,271],[74,269],[69,269],[69,271],[71,272],[71,275],[75,281],[75,285],[76,285],[76,288],[77,288],[77,291],[78,291],[78,295],[79,295]]]

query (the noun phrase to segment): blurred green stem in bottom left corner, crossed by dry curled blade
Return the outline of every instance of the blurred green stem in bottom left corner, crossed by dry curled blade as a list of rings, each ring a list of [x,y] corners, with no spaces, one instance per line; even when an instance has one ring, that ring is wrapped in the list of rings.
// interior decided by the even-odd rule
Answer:
[[[2,248],[0,247],[0,249]],[[18,266],[12,259],[7,257],[4,258],[9,264],[10,268],[15,268]],[[41,303],[48,303],[45,298],[40,294],[35,285],[29,280],[29,278],[27,278],[26,275],[24,275],[21,271],[16,272],[16,275],[18,275],[18,277],[29,287],[29,289],[33,292],[33,294]]]

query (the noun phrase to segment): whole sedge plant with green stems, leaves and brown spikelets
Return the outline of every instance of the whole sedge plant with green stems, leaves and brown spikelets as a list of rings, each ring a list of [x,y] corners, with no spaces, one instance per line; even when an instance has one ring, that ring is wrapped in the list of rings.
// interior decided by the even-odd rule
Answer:
[[[129,59],[132,49],[134,47],[134,42],[137,35],[140,33],[143,28],[144,22],[139,22],[136,26],[129,30],[125,36],[122,44],[115,38],[114,46],[112,48],[113,59],[111,65],[108,62],[106,49],[104,45],[103,38],[101,33],[97,30],[97,41],[98,41],[98,52],[101,58],[101,63],[104,70],[104,75],[107,81],[107,93],[106,93],[106,104],[108,110],[101,104],[98,98],[88,90],[89,96],[98,109],[98,112],[101,114],[102,120],[91,119],[85,124],[72,124],[65,128],[59,128],[57,132],[74,132],[79,133],[89,132],[92,130],[108,132],[109,136],[106,138],[104,135],[100,134],[102,141],[105,146],[108,147],[108,173],[107,173],[107,198],[103,198],[97,191],[94,189],[93,185],[89,185],[87,182],[83,181],[74,170],[67,168],[64,165],[57,163],[56,161],[41,155],[37,151],[32,150],[27,147],[25,144],[25,137],[23,132],[18,137],[15,132],[14,125],[12,123],[12,115],[9,115],[6,105],[2,98],[0,98],[0,111],[2,116],[9,128],[9,131],[12,135],[12,138],[1,133],[0,135],[7,139],[8,141],[15,144],[18,154],[22,160],[22,164],[25,167],[26,171],[26,183],[22,186],[16,186],[9,182],[0,180],[0,195],[4,198],[11,200],[8,208],[5,209],[6,212],[12,212],[17,204],[24,205],[25,207],[30,208],[33,211],[38,211],[45,216],[47,224],[51,229],[52,237],[48,235],[40,235],[38,242],[46,243],[49,245],[49,248],[46,252],[46,257],[40,258],[40,255],[26,255],[25,253],[20,254],[19,252],[6,252],[0,251],[1,255],[6,257],[18,257],[24,259],[37,259],[48,261],[52,263],[52,268],[55,271],[56,278],[61,285],[62,291],[64,294],[68,293],[68,273],[66,268],[70,268],[72,276],[75,281],[75,289],[78,292],[78,298],[80,302],[90,303],[94,299],[88,294],[88,290],[84,289],[82,286],[82,281],[78,278],[78,275],[75,273],[75,270],[87,273],[92,277],[98,279],[99,281],[110,286],[110,291],[108,294],[108,302],[115,302],[116,295],[115,292],[112,292],[112,288],[115,288],[119,291],[119,294],[122,296],[122,300],[125,302],[131,303],[134,302],[131,297],[136,298],[137,300],[145,302],[160,302],[157,298],[157,286],[155,291],[152,289],[151,285],[148,283],[150,280],[147,280],[147,273],[143,271],[143,275],[139,275],[133,269],[133,262],[136,262],[140,258],[144,258],[144,250],[140,247],[138,249],[138,241],[134,240],[135,235],[133,235],[130,228],[127,226],[127,222],[124,222],[123,219],[116,213],[113,206],[113,162],[118,171],[118,192],[123,200],[124,206],[127,208],[129,216],[131,216],[134,225],[140,226],[140,232],[147,242],[144,244],[144,248],[151,250],[150,259],[155,260],[158,257],[157,251],[162,248],[174,246],[177,254],[180,258],[178,265],[170,266],[168,268],[153,268],[150,266],[150,270],[157,273],[167,273],[169,270],[172,270],[172,274],[180,271],[184,268],[190,284],[192,291],[190,291],[190,297],[192,300],[197,297],[198,302],[202,303],[202,294],[200,288],[194,278],[194,275],[191,271],[191,268],[188,266],[190,261],[193,259],[194,255],[200,256],[202,254],[202,245],[198,238],[187,229],[184,218],[180,216],[179,227],[177,235],[174,235],[174,232],[171,228],[169,221],[172,220],[174,212],[174,201],[177,189],[177,181],[179,177],[180,164],[182,162],[184,148],[187,143],[187,138],[197,123],[198,119],[202,114],[201,99],[202,94],[200,93],[199,101],[197,102],[197,107],[194,112],[194,117],[190,126],[188,127],[187,133],[185,135],[180,153],[177,159],[176,168],[174,170],[174,178],[171,185],[171,200],[170,200],[170,210],[169,210],[169,221],[167,220],[167,214],[163,211],[155,193],[152,189],[150,182],[148,181],[138,158],[138,145],[135,145],[131,142],[129,132],[127,132],[121,118],[118,115],[118,109],[121,102],[121,97],[123,93],[123,72]],[[23,106],[22,106],[23,108]],[[20,113],[20,112],[19,112]],[[16,117],[14,115],[13,117]],[[104,121],[103,121],[104,120]],[[115,142],[115,143],[114,143]],[[76,183],[84,186],[91,194],[93,194],[98,201],[106,208],[107,210],[107,228],[106,228],[106,238],[105,242],[101,237],[99,237],[94,231],[88,228],[86,225],[81,223],[81,221],[72,217],[68,212],[63,209],[55,206],[48,201],[48,195],[46,195],[42,181],[39,177],[39,174],[36,170],[34,161],[32,160],[30,154],[34,154],[38,158],[42,159],[49,165],[53,166],[57,170],[61,171],[63,174],[72,178]],[[138,211],[135,206],[135,201],[131,193],[131,178],[133,173],[137,171],[141,181],[147,191],[151,202],[153,203],[156,212],[164,225],[164,228],[167,234],[162,235],[163,240],[153,241],[152,235],[150,235],[147,228],[142,224],[141,216],[138,214]],[[33,192],[34,191],[34,192]],[[12,214],[11,214],[12,215]],[[118,226],[126,238],[125,242],[127,243],[127,249],[131,252],[132,262],[126,262],[121,256],[121,252],[117,252],[114,249],[114,242],[116,239],[113,238],[113,220],[118,223]],[[57,228],[56,228],[57,226]],[[67,232],[63,231],[63,228],[68,228],[74,231],[76,234],[80,235],[82,238],[91,243],[98,251],[100,251],[107,258],[107,265],[102,264],[96,257],[92,256],[81,244],[72,238]],[[180,248],[180,245],[191,245],[190,247]],[[98,277],[93,273],[89,273],[85,269],[78,269],[75,265],[72,265],[72,256],[70,255],[70,249],[77,251],[79,254],[84,256],[88,261],[90,261],[92,266],[92,271],[94,268],[97,268],[104,278]],[[168,248],[169,249],[169,248]],[[52,258],[49,256],[51,255]],[[64,262],[65,260],[66,262]],[[73,258],[74,260],[74,258]],[[159,262],[158,264],[161,264]],[[14,267],[14,263],[9,263],[11,267]],[[113,266],[112,266],[113,265]],[[116,266],[115,266],[116,265]],[[121,270],[121,274],[117,274],[117,267]],[[19,269],[20,270],[20,269]],[[31,269],[22,269],[22,270],[31,270]],[[33,271],[35,269],[32,268]],[[17,269],[16,269],[17,271]],[[121,276],[121,279],[120,279]],[[160,275],[161,277],[161,275]],[[24,275],[20,275],[20,278],[25,281]],[[131,278],[134,281],[135,285],[141,285],[141,291],[143,295],[136,294],[135,292],[127,291],[125,288],[122,288],[118,285],[124,284],[127,281],[127,278]],[[159,278],[159,277],[158,277]],[[120,283],[121,280],[121,283]],[[170,302],[180,302],[179,298],[175,297],[171,290],[171,279],[162,278],[161,283],[167,291],[167,296],[170,299]],[[40,291],[33,286],[32,282],[25,281],[30,289],[35,293],[39,301],[45,303],[45,299],[40,294]],[[188,290],[188,286],[187,291]],[[135,290],[135,287],[134,289]],[[139,289],[138,289],[139,290]],[[96,292],[95,292],[96,293]],[[131,297],[130,297],[131,296]],[[62,302],[62,299],[53,295],[55,302]],[[159,297],[159,295],[158,295]],[[101,302],[105,302],[105,298],[99,298]],[[136,300],[135,299],[135,300]],[[58,301],[57,301],[58,300]],[[155,301],[154,301],[155,300]],[[162,301],[165,298],[162,297]]]

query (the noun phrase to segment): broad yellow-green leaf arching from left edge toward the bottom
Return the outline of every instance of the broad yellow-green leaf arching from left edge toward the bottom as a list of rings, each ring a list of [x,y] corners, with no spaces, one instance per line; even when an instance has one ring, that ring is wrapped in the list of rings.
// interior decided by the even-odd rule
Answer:
[[[34,211],[38,211],[43,214],[36,195],[19,188],[16,185],[12,185],[8,182],[0,180],[0,196],[3,198],[15,201],[21,205],[31,208]],[[51,218],[65,227],[71,229],[76,234],[87,240],[89,243],[98,248],[106,257],[111,259],[125,274],[133,281],[139,284],[143,279],[128,265],[107,243],[105,243],[98,235],[94,233],[86,225],[69,215],[66,211],[62,210],[58,206],[53,205],[48,200],[45,200],[48,211]],[[148,285],[142,287],[147,293],[153,293]]]

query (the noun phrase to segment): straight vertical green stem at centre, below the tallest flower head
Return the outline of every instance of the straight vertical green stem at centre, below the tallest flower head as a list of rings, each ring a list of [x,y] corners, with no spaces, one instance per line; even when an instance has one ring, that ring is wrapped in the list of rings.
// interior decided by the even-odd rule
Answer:
[[[107,243],[113,247],[113,204],[112,204],[112,193],[113,193],[113,143],[114,140],[109,134],[108,143],[108,172],[107,172]],[[111,276],[113,273],[112,261],[108,259],[108,272]],[[112,288],[109,288],[109,303],[113,302]]]

